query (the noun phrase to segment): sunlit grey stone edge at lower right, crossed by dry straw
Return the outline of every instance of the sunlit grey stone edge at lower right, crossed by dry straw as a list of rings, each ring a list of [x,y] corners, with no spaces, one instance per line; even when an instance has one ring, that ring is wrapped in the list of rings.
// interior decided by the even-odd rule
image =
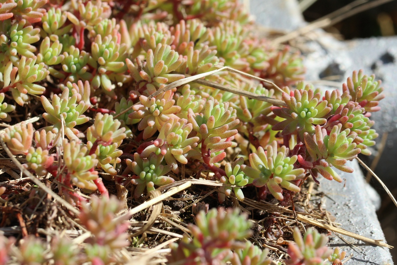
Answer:
[[[341,224],[341,228],[354,232],[361,236],[385,241],[382,228],[375,214],[375,206],[369,200],[366,190],[366,182],[356,161],[348,162],[354,169],[353,174],[337,171],[345,178],[344,184],[329,181],[322,178],[320,191],[325,193],[325,209],[336,218],[335,222]],[[347,244],[343,239],[353,244]],[[353,253],[353,257],[346,265],[364,264],[393,264],[390,251],[387,248],[371,246],[360,240],[348,236],[333,234],[330,236],[330,246],[339,246],[347,252]]]

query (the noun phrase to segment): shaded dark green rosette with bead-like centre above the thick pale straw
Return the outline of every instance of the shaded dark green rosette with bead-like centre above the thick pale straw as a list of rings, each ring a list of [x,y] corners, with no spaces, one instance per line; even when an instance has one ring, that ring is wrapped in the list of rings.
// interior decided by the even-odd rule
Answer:
[[[154,185],[163,186],[166,184],[170,184],[175,180],[171,177],[164,176],[168,172],[170,172],[172,165],[163,165],[163,156],[156,155],[152,153],[148,158],[142,159],[138,153],[134,154],[134,161],[131,159],[126,159],[127,163],[126,171],[132,171],[134,176],[131,183],[137,185],[135,188],[134,196],[140,197],[143,191],[147,190],[150,192],[154,190]]]

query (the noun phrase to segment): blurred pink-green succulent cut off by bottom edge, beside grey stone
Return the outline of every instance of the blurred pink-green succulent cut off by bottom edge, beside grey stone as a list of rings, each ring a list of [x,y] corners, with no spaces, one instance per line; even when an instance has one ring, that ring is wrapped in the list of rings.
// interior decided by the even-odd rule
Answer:
[[[287,260],[288,265],[323,265],[324,259],[331,255],[332,250],[326,246],[328,237],[318,233],[314,228],[309,228],[303,238],[297,227],[293,232],[295,244],[289,244]]]

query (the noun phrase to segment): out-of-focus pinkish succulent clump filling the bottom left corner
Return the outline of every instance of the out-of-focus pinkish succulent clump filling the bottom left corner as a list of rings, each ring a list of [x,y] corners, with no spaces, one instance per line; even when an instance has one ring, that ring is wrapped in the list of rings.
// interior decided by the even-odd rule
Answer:
[[[50,244],[31,235],[19,240],[0,235],[0,264],[114,264],[125,262],[119,251],[129,245],[128,214],[118,216],[123,203],[115,196],[110,199],[91,197],[91,204],[82,205],[80,224],[91,234],[83,246],[71,238],[55,234]]]

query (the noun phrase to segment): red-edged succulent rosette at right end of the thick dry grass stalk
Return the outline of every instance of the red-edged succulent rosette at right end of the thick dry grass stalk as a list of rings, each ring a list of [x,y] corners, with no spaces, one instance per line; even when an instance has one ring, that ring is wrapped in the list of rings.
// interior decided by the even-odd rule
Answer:
[[[314,95],[313,90],[295,90],[290,95],[283,93],[283,101],[287,108],[271,107],[274,114],[284,118],[282,122],[274,125],[272,130],[282,130],[282,135],[297,131],[303,139],[305,132],[314,133],[313,124],[325,124],[326,115],[331,111],[327,101],[320,102],[320,93]]]

